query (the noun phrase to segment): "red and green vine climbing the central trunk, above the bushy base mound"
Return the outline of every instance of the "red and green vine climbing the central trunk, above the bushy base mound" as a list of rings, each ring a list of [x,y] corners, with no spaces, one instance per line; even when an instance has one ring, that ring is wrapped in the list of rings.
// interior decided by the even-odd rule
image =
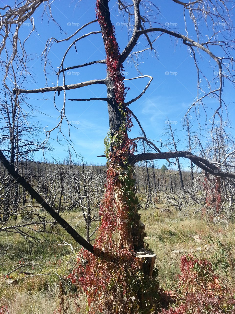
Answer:
[[[133,223],[132,207],[138,205],[134,191],[133,167],[128,157],[133,153],[134,144],[128,138],[127,130],[133,126],[127,106],[124,104],[126,91],[123,84],[123,65],[119,62],[120,51],[115,38],[114,26],[107,24],[100,1],[97,1],[97,19],[102,28],[106,51],[107,72],[113,84],[115,100],[121,121],[118,131],[110,131],[106,140],[107,184],[106,193],[100,206],[101,226],[97,245],[112,245],[113,233],[118,231],[119,247],[132,249],[133,240],[128,227]],[[111,134],[112,133],[112,134]],[[124,243],[125,242],[125,243]],[[105,249],[102,247],[102,249]]]

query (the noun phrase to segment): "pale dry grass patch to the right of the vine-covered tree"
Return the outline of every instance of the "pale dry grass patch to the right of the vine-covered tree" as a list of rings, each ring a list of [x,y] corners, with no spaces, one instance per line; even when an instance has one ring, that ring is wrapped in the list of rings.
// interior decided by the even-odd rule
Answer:
[[[159,206],[159,205],[158,205]],[[175,250],[191,250],[189,254],[196,255],[199,258],[209,257],[217,259],[227,259],[230,267],[228,273],[221,269],[217,273],[230,284],[235,283],[235,225],[230,223],[227,229],[221,232],[213,231],[207,224],[205,218],[192,217],[183,218],[178,212],[167,213],[156,209],[142,211],[141,220],[145,224],[147,234],[146,242],[149,248],[157,254],[156,264],[159,269],[159,282],[165,289],[171,289],[173,280],[177,279],[180,273],[180,258],[187,252],[172,254]],[[219,228],[215,228],[219,229]],[[192,236],[199,235],[201,242],[196,242]],[[222,242],[226,247],[228,256],[223,256],[220,252],[221,247],[217,243],[208,243],[208,237]],[[201,249],[196,249],[201,247]]]

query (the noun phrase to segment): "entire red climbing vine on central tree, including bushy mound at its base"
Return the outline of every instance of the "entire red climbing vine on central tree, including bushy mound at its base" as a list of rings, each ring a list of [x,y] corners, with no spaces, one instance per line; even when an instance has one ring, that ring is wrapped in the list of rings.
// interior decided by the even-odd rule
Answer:
[[[133,166],[128,161],[135,144],[127,133],[133,123],[124,103],[123,65],[119,61],[114,26],[107,24],[100,0],[97,0],[96,13],[104,39],[107,72],[121,121],[118,130],[110,130],[105,138],[107,183],[94,244],[97,253],[103,254],[97,257],[81,250],[77,266],[69,278],[85,292],[89,313],[140,313],[140,308],[141,313],[154,313],[164,293],[159,290],[157,273],[153,278],[146,276],[134,250],[144,248],[144,229],[139,223],[140,205],[134,187]]]

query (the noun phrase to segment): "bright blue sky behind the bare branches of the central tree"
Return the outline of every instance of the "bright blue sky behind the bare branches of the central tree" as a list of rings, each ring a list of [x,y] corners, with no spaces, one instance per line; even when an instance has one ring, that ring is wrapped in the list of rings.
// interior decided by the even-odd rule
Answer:
[[[3,1],[0,1],[3,2]],[[4,1],[5,2],[5,1]],[[8,1],[11,2],[11,1]],[[182,7],[171,0],[154,1],[159,6],[161,14],[156,16],[156,22],[165,25],[170,24],[168,27],[174,31],[179,31],[185,34],[184,19],[182,14]],[[110,1],[111,19],[115,26],[117,41],[122,51],[128,42],[128,32],[125,21],[122,15],[119,14],[117,7],[114,6],[115,1]],[[47,83],[43,73],[44,58],[42,54],[46,41],[50,37],[55,37],[58,40],[64,39],[76,31],[77,28],[83,24],[94,20],[95,17],[95,1],[86,0],[77,3],[72,1],[71,3],[66,0],[55,1],[51,4],[51,10],[55,21],[60,24],[61,29],[43,13],[43,5],[35,12],[35,31],[31,34],[27,41],[25,48],[29,54],[28,66],[30,73],[34,76],[34,82],[28,78],[29,82],[24,84],[25,89],[36,89],[44,86],[54,86],[57,84],[57,76],[55,70],[59,67],[61,59],[70,45],[72,40],[62,43],[54,43],[51,47],[48,55],[51,68],[48,68]],[[232,12],[231,12],[232,14]],[[27,25],[28,24],[28,25]],[[212,34],[211,29],[207,29],[203,22],[201,24],[202,33],[208,35]],[[164,26],[165,27],[165,26]],[[222,27],[222,26],[221,26]],[[25,23],[21,26],[20,36],[25,37],[32,29],[31,23]],[[91,31],[100,30],[97,23],[93,23],[87,26],[85,29],[76,35],[75,38],[89,33]],[[195,38],[193,26],[188,27],[191,37]],[[154,35],[152,39],[156,38]],[[143,50],[147,41],[144,36],[139,39],[138,47],[134,51]],[[187,109],[192,104],[197,95],[197,73],[193,58],[189,54],[187,46],[182,44],[179,40],[178,43],[174,38],[170,38],[169,35],[162,35],[155,43],[154,48],[156,54],[153,51],[145,51],[139,56],[139,69],[144,75],[153,76],[154,79],[146,91],[146,93],[138,101],[130,105],[130,109],[138,116],[148,138],[159,141],[163,140],[165,136],[164,128],[167,126],[166,119],[169,118],[172,123],[172,128],[177,129],[177,138],[180,139],[178,150],[187,150],[185,142],[186,133],[182,131],[182,118],[184,117]],[[100,34],[90,35],[86,39],[82,39],[76,44],[77,53],[75,48],[71,48],[69,51],[64,67],[83,64],[85,62],[100,60],[105,58],[105,51]],[[214,50],[217,52],[217,50]],[[200,66],[205,75],[210,79],[215,76],[217,68],[215,68],[215,62],[210,58],[202,54],[198,57],[200,60]],[[55,70],[53,70],[53,68]],[[124,64],[124,71],[126,78],[136,77],[137,73],[133,62]],[[169,73],[169,74],[167,74]],[[75,84],[90,79],[102,79],[106,76],[106,65],[95,64],[85,68],[79,68],[70,71],[65,74],[65,84]],[[131,100],[138,95],[148,83],[148,78],[141,78],[138,80],[125,81],[126,86],[130,87],[126,100]],[[59,80],[59,85],[62,85],[62,77]],[[203,82],[202,82],[203,83]],[[47,85],[46,85],[47,84]],[[90,98],[90,97],[106,97],[105,85],[91,85],[80,89],[66,91],[66,107],[65,112],[67,119],[71,121],[75,127],[70,127],[71,141],[73,142],[74,149],[78,154],[81,154],[85,162],[93,163],[105,163],[104,159],[97,158],[97,155],[103,154],[104,145],[103,139],[108,132],[108,113],[107,104],[104,101],[86,101],[76,102],[69,101],[72,98]],[[42,127],[46,127],[47,130],[55,127],[56,119],[59,116],[59,112],[56,111],[54,106],[54,93],[49,92],[43,94],[26,95],[27,102],[35,106],[39,111],[35,111],[35,121],[40,121]],[[224,86],[224,99],[227,103],[230,103],[234,99],[234,87],[227,83]],[[55,96],[55,103],[58,108],[63,105],[63,93],[60,96]],[[208,109],[207,119],[203,111],[200,111],[202,124],[208,121],[213,115],[214,109],[218,106],[218,102],[215,99],[205,100]],[[27,110],[25,108],[25,110]],[[234,120],[235,110],[234,104],[231,103],[228,114],[230,120]],[[195,120],[192,113],[192,121]],[[198,124],[193,123],[193,130],[197,131]],[[68,137],[68,125],[64,121],[62,124],[62,131]],[[57,142],[57,131],[52,133],[50,139],[50,145],[54,148],[54,151],[50,153],[55,159],[62,160],[66,155],[66,141],[59,135],[60,143]],[[137,123],[134,122],[134,128],[130,134],[130,137],[137,137],[140,134],[140,129]],[[204,133],[205,134],[205,133]],[[42,135],[43,138],[43,135]],[[37,153],[37,159],[42,159],[41,153]],[[159,161],[158,164],[162,165],[165,161]]]

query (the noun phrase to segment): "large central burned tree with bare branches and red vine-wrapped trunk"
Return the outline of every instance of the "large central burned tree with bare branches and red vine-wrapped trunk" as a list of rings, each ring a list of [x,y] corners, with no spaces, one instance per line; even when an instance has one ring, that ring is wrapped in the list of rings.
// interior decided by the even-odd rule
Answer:
[[[35,9],[37,5],[39,5],[42,1],[35,1],[35,5],[33,8]],[[123,11],[128,16],[129,26],[131,27],[130,40],[127,42],[124,50],[122,52],[119,51],[118,43],[116,41],[114,27],[112,25],[109,4],[108,0],[97,0],[97,19],[88,22],[79,28],[74,34],[70,35],[66,39],[56,40],[55,38],[51,38],[46,45],[46,49],[44,51],[45,57],[48,57],[49,48],[51,45],[56,42],[60,43],[63,41],[69,41],[72,39],[70,46],[65,51],[64,57],[62,58],[61,63],[59,64],[58,70],[58,81],[57,84],[53,87],[42,87],[39,89],[22,89],[21,86],[15,84],[15,88],[13,89],[13,94],[18,97],[21,94],[34,94],[34,93],[45,93],[45,92],[56,92],[60,94],[61,91],[64,92],[64,102],[62,109],[60,111],[60,119],[57,125],[53,128],[59,128],[61,131],[62,121],[66,119],[65,117],[65,95],[66,91],[70,89],[83,88],[85,86],[90,86],[92,84],[103,84],[107,87],[107,97],[92,97],[86,99],[70,99],[71,101],[93,101],[93,100],[101,100],[107,102],[107,110],[109,114],[109,134],[108,140],[106,141],[106,155],[104,157],[108,160],[108,170],[107,170],[107,189],[104,199],[102,201],[102,206],[100,210],[101,214],[101,226],[99,229],[99,238],[96,243],[96,250],[94,250],[91,244],[87,243],[80,235],[76,233],[76,231],[69,226],[64,219],[58,215],[53,208],[51,208],[44,200],[40,197],[40,195],[19,175],[17,175],[16,171],[9,164],[8,160],[4,157],[3,153],[0,152],[0,159],[3,162],[3,165],[8,169],[8,171],[13,175],[15,180],[20,183],[25,189],[29,191],[31,196],[35,198],[64,228],[67,232],[73,236],[78,243],[83,245],[87,250],[91,253],[102,255],[103,251],[106,253],[109,252],[109,247],[112,247],[112,235],[116,233],[117,236],[117,247],[118,252],[121,250],[127,249],[129,252],[139,253],[138,250],[145,250],[144,244],[144,226],[140,221],[140,215],[138,214],[138,209],[140,205],[138,203],[138,199],[136,198],[136,190],[134,186],[133,180],[133,164],[142,160],[155,160],[155,159],[176,159],[178,158],[187,158],[192,161],[195,165],[197,165],[202,170],[206,171],[206,173],[210,173],[212,175],[216,175],[222,178],[231,178],[235,179],[235,175],[233,173],[229,173],[226,171],[220,171],[220,169],[206,160],[205,158],[193,155],[189,151],[170,151],[170,152],[161,152],[156,145],[153,144],[144,134],[144,141],[148,143],[148,145],[153,149],[153,153],[146,152],[141,154],[134,154],[133,147],[134,141],[136,139],[129,139],[128,131],[132,127],[133,117],[136,119],[134,113],[129,109],[129,105],[133,102],[137,101],[149,88],[149,85],[152,81],[152,78],[148,75],[141,75],[136,78],[150,78],[149,83],[144,88],[143,92],[137,95],[134,99],[125,101],[125,86],[124,86],[124,76],[123,73],[123,63],[129,58],[133,57],[133,54],[140,53],[140,51],[135,52],[134,49],[137,46],[140,40],[146,39],[148,48],[153,50],[154,42],[157,41],[159,36],[161,35],[169,35],[170,38],[176,38],[182,42],[183,45],[188,49],[193,57],[193,60],[196,64],[196,69],[198,71],[198,89],[199,93],[197,95],[196,100],[191,104],[191,108],[195,108],[196,105],[200,104],[203,106],[203,100],[207,96],[214,96],[218,100],[218,106],[215,110],[215,113],[212,117],[213,125],[215,121],[215,117],[219,116],[222,124],[222,109],[225,106],[225,102],[222,98],[222,89],[225,78],[232,81],[234,83],[234,76],[232,74],[232,64],[234,59],[230,55],[230,51],[234,50],[234,40],[227,39],[227,34],[217,29],[215,23],[221,22],[224,23],[230,33],[232,33],[232,28],[229,25],[229,5],[226,6],[226,3],[215,0],[215,5],[211,6],[211,0],[208,1],[193,1],[189,3],[181,2],[178,0],[172,0],[171,4],[178,5],[182,7],[183,13],[189,12],[189,18],[191,18],[192,24],[194,26],[194,30],[196,32],[195,38],[194,33],[188,34],[188,30],[191,27],[187,27],[188,19],[185,18],[185,34],[180,34],[176,31],[173,31],[165,25],[159,23],[159,27],[152,26],[151,14],[153,11],[150,9],[153,8],[158,11],[158,8],[155,4],[150,3],[149,1],[141,1],[141,0],[133,0],[133,1],[120,1],[118,0],[118,9]],[[28,8],[29,9],[29,8]],[[32,10],[31,10],[32,11]],[[29,10],[29,16],[30,12]],[[149,12],[151,14],[149,15]],[[17,15],[17,10],[14,10],[15,15],[10,14],[8,19],[14,19]],[[155,13],[154,13],[155,14]],[[25,14],[26,15],[26,14]],[[18,15],[17,15],[18,16]],[[24,12],[22,13],[24,16]],[[8,19],[6,23],[8,23]],[[19,19],[19,18],[18,18]],[[197,21],[200,20],[205,21],[205,23],[211,23],[213,29],[213,35],[211,38],[208,38],[206,42],[204,42],[204,37],[201,35],[201,30],[199,29],[199,24]],[[133,27],[130,25],[131,21],[133,21]],[[85,35],[81,35],[80,37],[76,37],[80,30],[84,29],[87,25],[91,23],[98,22],[101,30],[92,31]],[[15,23],[17,20],[15,19]],[[208,25],[209,26],[209,25]],[[104,49],[106,53],[105,60],[97,60],[91,61],[86,64],[76,65],[74,67],[66,68],[65,59],[68,54],[68,51],[72,47],[76,45],[78,41],[81,39],[91,36],[102,34],[102,39],[104,42]],[[16,36],[17,37],[17,36]],[[144,39],[142,39],[144,38]],[[16,45],[15,45],[16,46]],[[142,52],[144,52],[142,50]],[[220,51],[220,53],[219,53]],[[198,62],[198,56],[200,56],[200,52],[202,54],[206,54],[213,60],[214,65],[218,69],[218,75],[216,78],[216,87],[214,88],[214,84],[207,84],[208,89],[203,90],[201,84],[201,76],[205,78],[200,69],[200,65]],[[17,54],[17,51],[16,51]],[[221,57],[221,55],[223,57]],[[23,60],[24,61],[24,60]],[[65,73],[68,69],[72,68],[81,68],[85,66],[90,66],[92,64],[99,63],[107,65],[107,76],[103,79],[92,79],[89,81],[85,81],[77,84],[67,84],[69,82],[65,82]],[[223,75],[223,71],[229,73],[226,77]],[[62,84],[59,84],[59,74],[62,74]],[[207,80],[207,79],[206,79]],[[208,81],[208,80],[207,80]],[[14,80],[15,82],[15,80]],[[209,82],[208,82],[209,83]],[[138,122],[138,119],[136,119]],[[140,125],[140,123],[138,122]],[[50,136],[50,130],[47,132],[47,135]],[[181,178],[182,179],[182,178]],[[182,183],[182,180],[181,180]],[[182,184],[183,188],[183,184]],[[108,214],[107,214],[108,213]],[[110,218],[111,217],[111,218]],[[124,217],[124,218],[123,218]],[[118,218],[118,219],[117,219]],[[116,220],[115,220],[116,219]],[[106,228],[105,228],[106,226]],[[108,228],[107,228],[108,226]],[[105,239],[105,241],[104,241]],[[134,251],[133,251],[134,250]],[[143,252],[143,251],[142,251]],[[114,253],[114,252],[113,252]],[[138,254],[137,254],[138,255]],[[139,256],[139,255],[138,255]],[[145,257],[145,255],[144,255]],[[139,257],[138,257],[139,258]],[[147,267],[142,267],[146,278],[152,275],[152,269],[155,257],[150,255],[150,257],[146,257],[148,259]],[[140,257],[141,259],[141,257]],[[89,265],[92,267],[92,264]],[[142,265],[143,266],[143,265]],[[141,295],[141,294],[140,294]],[[143,295],[143,294],[142,294]],[[141,298],[140,298],[141,299]],[[141,299],[144,300],[144,297]],[[141,302],[140,302],[141,303]],[[141,303],[143,307],[143,303]]]

